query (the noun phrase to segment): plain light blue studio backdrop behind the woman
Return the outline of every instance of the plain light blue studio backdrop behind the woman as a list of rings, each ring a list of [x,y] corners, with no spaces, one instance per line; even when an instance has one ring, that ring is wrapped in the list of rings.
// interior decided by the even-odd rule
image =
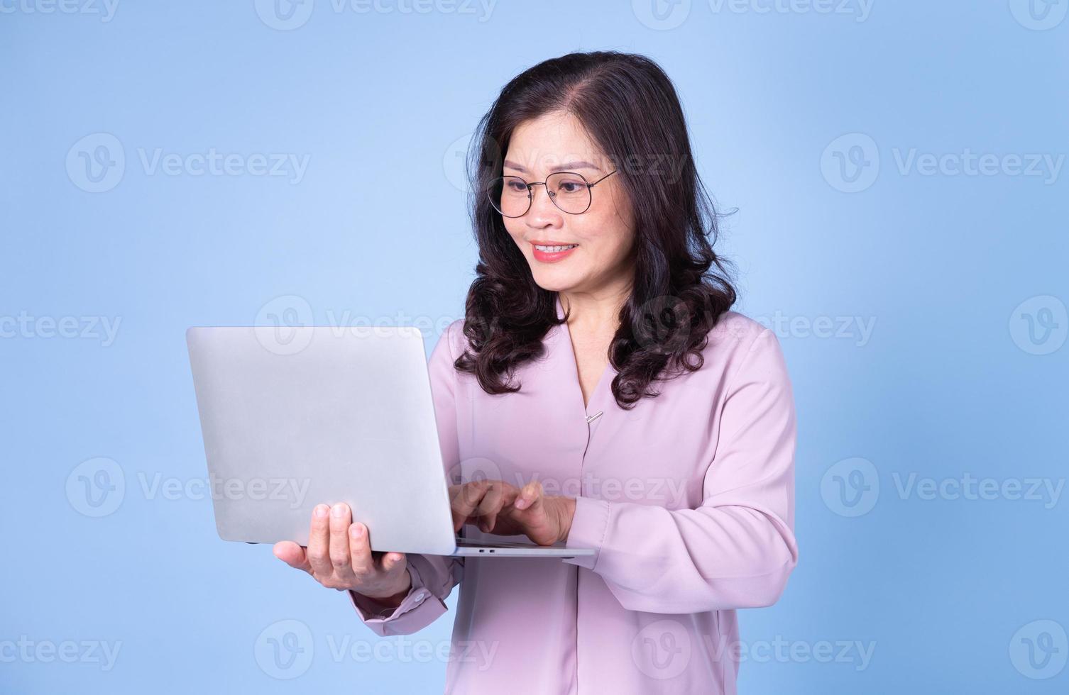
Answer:
[[[0,645],[121,648],[109,670],[91,654],[4,659],[0,691],[440,692],[444,661],[405,658],[268,547],[219,541],[196,488],[167,499],[142,480],[206,475],[188,326],[248,325],[290,297],[319,323],[425,317],[430,349],[463,315],[476,260],[465,137],[522,69],[614,48],[672,78],[699,171],[738,209],[717,246],[739,265],[737,309],[786,317],[801,559],[775,606],[740,619],[745,643],[800,646],[747,660],[740,691],[1066,692],[1069,502],[924,499],[896,481],[1064,481],[1069,173],[897,160],[1069,153],[1067,0],[1035,21],[1016,1],[877,0],[863,17],[849,0],[842,13],[713,0],[661,5],[657,20],[637,0],[489,13],[315,0],[281,28],[251,0],[121,0],[107,21],[84,2],[4,0],[0,14]],[[95,133],[125,158],[103,192],[79,170]],[[168,175],[141,162],[157,148],[308,164],[299,183]],[[10,330],[19,316],[31,328]],[[63,337],[48,328],[63,317],[120,325],[113,341],[99,327]],[[822,317],[846,335],[806,329]],[[1028,320],[1047,328],[1029,335]],[[100,457],[125,493],[96,518],[68,478]],[[408,639],[439,648],[451,617]],[[311,662],[272,673],[258,650],[289,619]],[[1036,638],[1052,661],[1022,661]],[[387,644],[334,658],[345,639]],[[871,660],[856,646],[803,655],[825,642]]]

